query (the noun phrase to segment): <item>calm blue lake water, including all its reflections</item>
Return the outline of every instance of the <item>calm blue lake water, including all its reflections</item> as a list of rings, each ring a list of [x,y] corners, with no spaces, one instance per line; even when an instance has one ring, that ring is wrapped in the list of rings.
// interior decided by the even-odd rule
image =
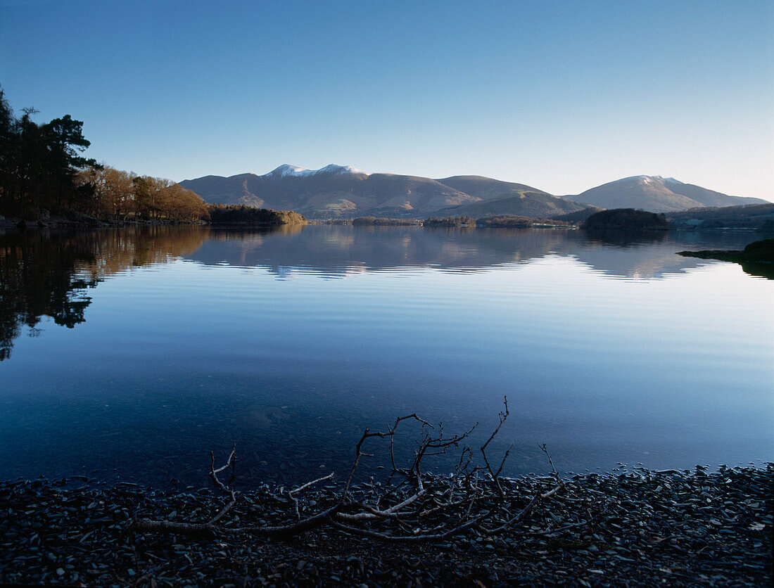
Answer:
[[[290,481],[410,412],[488,435],[504,396],[511,474],[537,443],[563,471],[772,460],[774,281],[675,255],[755,238],[0,235],[2,477],[203,484],[237,443],[243,483]]]

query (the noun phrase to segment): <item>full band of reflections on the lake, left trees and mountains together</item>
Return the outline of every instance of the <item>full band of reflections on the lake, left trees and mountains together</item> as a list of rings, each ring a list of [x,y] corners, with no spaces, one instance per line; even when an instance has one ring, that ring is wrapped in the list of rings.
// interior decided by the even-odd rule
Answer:
[[[707,265],[686,248],[742,248],[748,234],[584,234],[571,230],[290,226],[264,231],[211,227],[131,227],[104,231],[11,231],[0,234],[0,361],[26,327],[39,334],[83,323],[88,296],[110,275],[184,258],[202,265],[265,268],[342,278],[361,272],[433,268],[482,272],[549,255],[572,258],[604,277],[661,279]],[[770,268],[745,267],[771,278]],[[769,272],[769,273],[767,273]]]

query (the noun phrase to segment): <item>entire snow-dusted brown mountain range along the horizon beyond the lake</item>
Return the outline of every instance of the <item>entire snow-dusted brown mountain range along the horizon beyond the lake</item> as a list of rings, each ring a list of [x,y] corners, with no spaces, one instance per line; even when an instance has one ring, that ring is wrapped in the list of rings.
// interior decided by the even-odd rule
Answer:
[[[553,196],[521,183],[483,176],[431,179],[392,173],[365,173],[331,164],[321,169],[282,165],[258,176],[204,176],[180,186],[208,203],[245,204],[296,210],[309,218],[471,216],[516,214],[559,217],[587,210],[633,207],[653,212],[694,207],[763,203],[731,197],[660,176],[635,176],[586,190]],[[589,211],[591,211],[589,210]]]

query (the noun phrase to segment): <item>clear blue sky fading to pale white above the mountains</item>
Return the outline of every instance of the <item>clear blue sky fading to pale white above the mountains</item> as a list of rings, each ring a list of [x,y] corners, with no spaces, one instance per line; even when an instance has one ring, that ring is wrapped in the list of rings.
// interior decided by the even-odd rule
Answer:
[[[334,162],[774,200],[770,0],[0,0],[0,84],[176,180]]]

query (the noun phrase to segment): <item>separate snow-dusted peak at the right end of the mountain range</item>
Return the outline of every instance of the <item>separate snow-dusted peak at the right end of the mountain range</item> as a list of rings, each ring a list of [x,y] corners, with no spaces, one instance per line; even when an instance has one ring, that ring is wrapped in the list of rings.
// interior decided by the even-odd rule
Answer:
[[[759,198],[728,196],[661,176],[632,176],[617,179],[615,182],[602,184],[567,198],[602,208],[638,208],[651,212],[765,203],[765,200]]]

